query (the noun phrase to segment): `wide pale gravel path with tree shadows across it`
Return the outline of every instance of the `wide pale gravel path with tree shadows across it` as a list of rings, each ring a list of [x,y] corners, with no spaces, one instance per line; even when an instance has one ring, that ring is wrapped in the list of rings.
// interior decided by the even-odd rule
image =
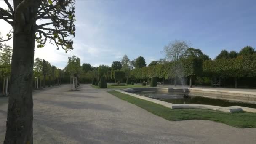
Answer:
[[[90,85],[34,93],[34,144],[255,144],[256,128],[207,120],[171,122]],[[0,98],[0,143],[7,104]]]

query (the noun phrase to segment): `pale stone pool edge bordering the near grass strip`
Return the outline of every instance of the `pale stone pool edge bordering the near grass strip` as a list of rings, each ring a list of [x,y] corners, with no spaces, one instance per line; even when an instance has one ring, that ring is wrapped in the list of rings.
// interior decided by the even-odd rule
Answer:
[[[129,88],[128,88],[129,89]],[[125,90],[128,90],[125,89]],[[165,101],[160,101],[157,99],[152,99],[146,96],[140,96],[134,93],[128,93],[126,91],[123,90],[116,90],[117,92],[123,93],[123,94],[127,94],[129,96],[133,96],[139,99],[143,99],[146,101],[151,101],[155,104],[160,104],[162,106],[171,108],[171,109],[210,109],[210,110],[216,110],[216,111],[221,111],[221,112],[240,112],[240,111],[244,111],[244,112],[253,112],[256,113],[256,109],[253,108],[249,108],[249,107],[241,107],[241,106],[230,106],[230,107],[220,107],[220,106],[212,106],[212,105],[205,105],[205,104],[172,104],[172,103],[168,103]]]

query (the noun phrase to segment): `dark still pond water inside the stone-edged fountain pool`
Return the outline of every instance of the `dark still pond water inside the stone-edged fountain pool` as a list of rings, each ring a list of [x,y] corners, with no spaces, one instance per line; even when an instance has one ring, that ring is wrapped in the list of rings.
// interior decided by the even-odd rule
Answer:
[[[223,99],[213,99],[206,98],[201,96],[189,96],[187,98],[183,97],[183,94],[173,94],[173,93],[164,93],[159,91],[132,91],[131,93],[136,93],[141,96],[147,96],[153,99],[158,99],[160,101],[166,101],[172,104],[207,104],[221,107],[229,106],[242,106],[242,107],[251,107],[256,108],[256,104],[243,103],[238,101],[228,101]]]

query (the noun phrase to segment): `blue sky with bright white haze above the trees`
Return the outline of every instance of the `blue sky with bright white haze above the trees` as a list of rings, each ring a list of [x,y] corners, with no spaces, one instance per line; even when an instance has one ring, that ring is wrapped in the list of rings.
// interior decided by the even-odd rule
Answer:
[[[0,6],[6,7],[3,1]],[[212,59],[223,49],[256,48],[255,0],[77,0],[75,16],[74,50],[66,54],[47,44],[35,47],[35,58],[63,69],[72,55],[94,67],[111,66],[125,54],[130,60],[143,56],[149,64],[164,58],[160,51],[174,40]],[[10,29],[0,20],[3,35]]]

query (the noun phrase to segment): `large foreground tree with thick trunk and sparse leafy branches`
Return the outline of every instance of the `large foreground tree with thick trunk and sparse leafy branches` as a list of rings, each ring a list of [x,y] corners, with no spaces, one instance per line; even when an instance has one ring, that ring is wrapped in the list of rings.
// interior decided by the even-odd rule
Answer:
[[[38,48],[47,40],[66,52],[72,48],[70,35],[75,36],[74,0],[13,0],[13,7],[0,6],[0,19],[13,27],[7,39],[13,37],[11,86],[4,144],[33,144],[32,80],[35,40]],[[47,19],[43,24],[36,21]],[[48,27],[47,27],[48,26]],[[49,28],[49,26],[51,26]]]

